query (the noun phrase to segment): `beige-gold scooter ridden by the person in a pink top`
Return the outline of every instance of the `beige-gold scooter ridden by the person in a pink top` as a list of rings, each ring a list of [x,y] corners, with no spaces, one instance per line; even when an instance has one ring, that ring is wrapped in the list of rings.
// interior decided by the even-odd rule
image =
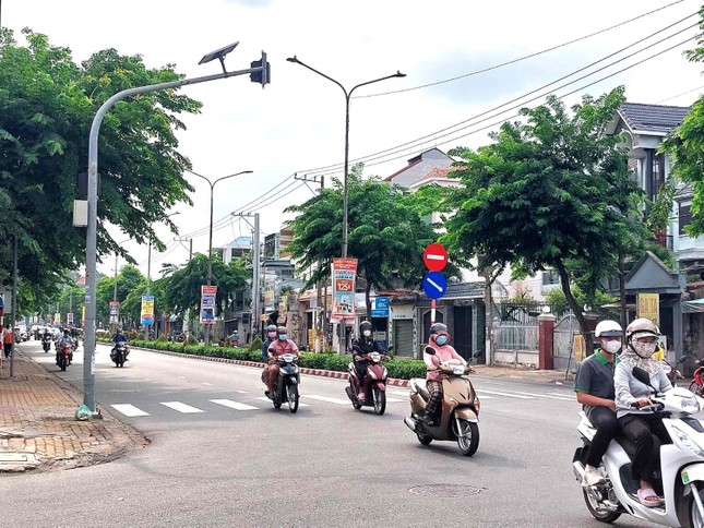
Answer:
[[[426,352],[435,353],[432,347],[427,347]],[[430,427],[421,420],[430,398],[426,380],[421,379],[410,380],[410,416],[404,418],[404,423],[416,433],[422,445],[429,445],[433,440],[457,441],[460,452],[464,456],[472,456],[479,447],[480,408],[472,381],[465,375],[472,372],[472,368],[456,360],[443,361],[438,368],[442,374],[446,374],[442,381],[439,425]]]

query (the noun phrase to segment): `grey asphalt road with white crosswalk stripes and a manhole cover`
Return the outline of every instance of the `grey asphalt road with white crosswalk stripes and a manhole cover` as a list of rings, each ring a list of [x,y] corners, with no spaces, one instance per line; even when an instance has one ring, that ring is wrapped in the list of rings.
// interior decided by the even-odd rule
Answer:
[[[59,372],[38,344],[23,349],[82,386],[81,350]],[[303,375],[291,415],[262,399],[258,369],[139,350],[117,369],[108,351],[96,351],[96,401],[152,444],[0,479],[0,526],[604,526],[572,476],[570,386],[475,376],[481,441],[466,458],[455,443],[417,442],[404,388],[390,387],[378,417],[351,408],[344,381]]]

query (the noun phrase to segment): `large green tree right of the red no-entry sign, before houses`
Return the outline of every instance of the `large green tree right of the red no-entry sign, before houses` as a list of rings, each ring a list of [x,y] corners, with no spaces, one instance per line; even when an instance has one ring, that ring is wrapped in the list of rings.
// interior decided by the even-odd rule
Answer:
[[[639,190],[622,140],[605,132],[623,101],[622,88],[585,96],[570,115],[549,97],[523,109],[525,121],[504,123],[493,144],[451,152],[462,159],[451,172],[462,185],[449,199],[455,214],[442,239],[450,251],[467,262],[479,257],[496,275],[509,265],[515,278],[557,269],[584,335],[573,283],[593,303],[599,283],[618,272],[625,237],[643,232],[632,230]]]

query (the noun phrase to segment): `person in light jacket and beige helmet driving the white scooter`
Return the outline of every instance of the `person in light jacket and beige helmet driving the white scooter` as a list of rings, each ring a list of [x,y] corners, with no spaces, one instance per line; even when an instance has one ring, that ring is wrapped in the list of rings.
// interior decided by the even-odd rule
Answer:
[[[635,445],[633,478],[640,481],[639,502],[655,507],[663,504],[653,490],[654,472],[659,460],[659,445],[653,435],[664,444],[670,443],[669,434],[659,413],[640,410],[651,405],[651,387],[633,376],[633,369],[640,367],[648,373],[651,385],[664,393],[672,388],[660,361],[653,357],[659,332],[655,324],[645,319],[634,320],[625,329],[627,348],[616,365],[613,384],[616,388],[616,416],[623,435]]]

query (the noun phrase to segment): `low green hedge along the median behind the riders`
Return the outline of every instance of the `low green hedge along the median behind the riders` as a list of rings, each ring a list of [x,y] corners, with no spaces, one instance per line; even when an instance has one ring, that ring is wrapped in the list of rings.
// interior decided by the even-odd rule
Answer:
[[[99,338],[100,341],[110,341],[109,338]],[[208,356],[213,358],[236,359],[239,361],[262,360],[261,347],[254,350],[248,348],[229,348],[229,347],[206,347],[204,345],[186,345],[183,343],[134,339],[130,341],[134,347],[153,350],[166,350],[171,352],[188,353],[192,356]],[[251,347],[250,347],[251,348]],[[302,352],[298,362],[300,367],[308,369],[323,369],[335,372],[347,372],[351,356],[338,356],[336,353],[313,353]],[[414,359],[392,359],[384,361],[389,370],[389,377],[398,380],[409,380],[411,377],[426,376],[426,363]]]

